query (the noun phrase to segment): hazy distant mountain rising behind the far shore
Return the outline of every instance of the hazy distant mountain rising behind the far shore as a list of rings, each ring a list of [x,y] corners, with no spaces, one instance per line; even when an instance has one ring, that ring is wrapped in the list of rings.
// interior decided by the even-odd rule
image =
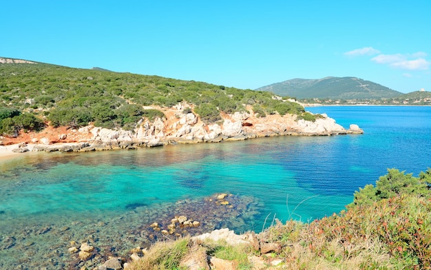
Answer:
[[[394,98],[402,95],[401,92],[378,83],[355,77],[291,79],[260,87],[256,90],[295,98],[370,99]]]

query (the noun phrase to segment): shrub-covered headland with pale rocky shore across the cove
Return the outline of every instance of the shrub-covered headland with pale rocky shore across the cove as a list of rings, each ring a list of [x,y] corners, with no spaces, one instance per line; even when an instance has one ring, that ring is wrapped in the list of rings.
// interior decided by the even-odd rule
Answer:
[[[0,63],[0,76],[3,144],[66,143],[90,137],[114,141],[118,147],[125,141],[160,145],[348,133],[333,119],[305,112],[302,105],[270,92],[14,59]],[[40,131],[48,127],[51,132],[66,127],[68,134],[42,138]],[[79,136],[70,133],[79,130]]]

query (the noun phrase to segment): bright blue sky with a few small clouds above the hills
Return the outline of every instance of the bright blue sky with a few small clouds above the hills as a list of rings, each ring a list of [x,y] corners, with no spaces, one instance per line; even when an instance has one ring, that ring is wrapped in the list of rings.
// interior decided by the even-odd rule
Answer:
[[[243,89],[356,76],[431,91],[430,0],[4,0],[0,10],[0,56]]]

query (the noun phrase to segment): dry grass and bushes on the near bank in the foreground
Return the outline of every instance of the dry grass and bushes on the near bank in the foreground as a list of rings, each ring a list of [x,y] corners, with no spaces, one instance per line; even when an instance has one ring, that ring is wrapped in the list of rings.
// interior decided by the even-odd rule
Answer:
[[[339,214],[310,223],[288,220],[282,224],[277,220],[259,238],[261,243],[276,243],[280,252],[261,257],[282,259],[284,269],[431,269],[430,183],[431,169],[419,177],[388,169],[375,186],[355,192],[354,202]],[[165,245],[178,250],[184,241],[189,238],[156,243],[150,253],[165,249]],[[180,260],[196,251],[190,242],[187,247],[169,253],[182,254],[174,256],[178,262],[171,264],[177,267],[172,269],[180,269]],[[225,242],[204,242],[199,252],[233,261],[238,269],[253,269],[249,256],[259,253],[251,246],[231,247]],[[173,258],[158,256],[160,259],[144,256],[143,260],[154,264],[143,267],[139,261],[132,269],[165,269],[165,264],[159,266],[156,261]]]

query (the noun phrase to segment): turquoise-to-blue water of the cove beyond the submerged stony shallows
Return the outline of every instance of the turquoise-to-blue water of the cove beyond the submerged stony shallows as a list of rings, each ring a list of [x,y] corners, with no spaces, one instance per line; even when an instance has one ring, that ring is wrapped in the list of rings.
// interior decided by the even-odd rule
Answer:
[[[31,153],[0,162],[0,228],[59,218],[109,220],[130,205],[155,207],[226,192],[252,196],[269,216],[308,221],[351,203],[359,187],[397,168],[431,167],[431,107],[309,107],[364,134],[257,138],[133,151]],[[159,207],[159,206],[158,206]],[[73,228],[72,228],[73,229]],[[77,233],[75,233],[76,235]]]

